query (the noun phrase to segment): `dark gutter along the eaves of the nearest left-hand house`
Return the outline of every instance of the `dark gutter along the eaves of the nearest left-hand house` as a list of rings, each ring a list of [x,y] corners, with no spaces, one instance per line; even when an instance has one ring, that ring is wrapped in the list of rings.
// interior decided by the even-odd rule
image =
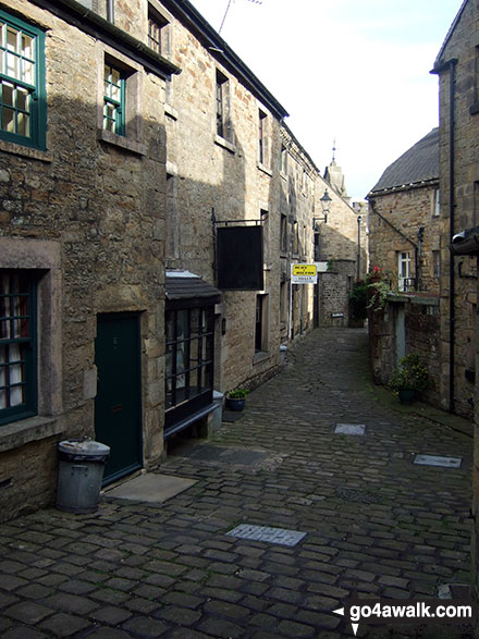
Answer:
[[[159,56],[137,38],[75,0],[30,0],[30,2],[113,47],[163,79],[169,79],[171,75],[177,75],[182,71],[180,66]]]

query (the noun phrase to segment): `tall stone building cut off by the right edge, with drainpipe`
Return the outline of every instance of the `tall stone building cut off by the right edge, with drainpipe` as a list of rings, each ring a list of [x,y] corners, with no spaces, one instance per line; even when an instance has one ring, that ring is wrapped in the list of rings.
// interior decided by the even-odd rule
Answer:
[[[479,593],[479,48],[477,2],[463,2],[432,73],[439,76],[442,392],[452,411],[475,407],[472,570]]]

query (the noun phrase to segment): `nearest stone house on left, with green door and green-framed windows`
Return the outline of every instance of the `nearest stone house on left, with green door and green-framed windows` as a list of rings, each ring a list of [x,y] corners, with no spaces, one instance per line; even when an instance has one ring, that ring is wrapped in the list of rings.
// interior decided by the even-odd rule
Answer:
[[[2,3],[1,517],[51,502],[59,439],[121,432],[110,479],[163,448],[158,106],[179,69],[121,9],[126,30],[77,2]]]

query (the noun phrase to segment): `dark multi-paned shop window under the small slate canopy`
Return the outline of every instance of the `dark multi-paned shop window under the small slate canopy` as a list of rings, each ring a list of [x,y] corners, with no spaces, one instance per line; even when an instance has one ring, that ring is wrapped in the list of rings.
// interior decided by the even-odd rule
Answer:
[[[186,402],[211,400],[213,308],[167,311],[167,411]]]

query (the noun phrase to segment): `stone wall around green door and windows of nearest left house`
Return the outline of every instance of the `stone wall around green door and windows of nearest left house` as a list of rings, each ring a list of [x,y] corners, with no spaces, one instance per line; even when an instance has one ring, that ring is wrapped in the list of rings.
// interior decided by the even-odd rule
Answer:
[[[34,3],[9,5],[46,29],[48,137],[46,151],[0,142],[0,268],[28,269],[39,297],[38,417],[0,427],[2,518],[51,501],[60,439],[95,437],[98,314],[142,319],[146,466],[164,411],[164,81]],[[102,131],[106,54],[135,82],[124,139]]]

